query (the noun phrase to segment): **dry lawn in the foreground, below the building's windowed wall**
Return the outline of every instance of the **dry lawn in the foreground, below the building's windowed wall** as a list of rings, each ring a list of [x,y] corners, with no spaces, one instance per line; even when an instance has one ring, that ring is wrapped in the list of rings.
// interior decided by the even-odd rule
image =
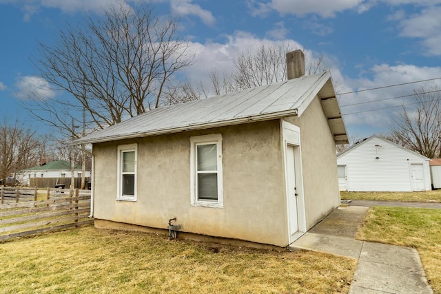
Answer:
[[[0,244],[1,293],[347,293],[356,260],[82,227]]]

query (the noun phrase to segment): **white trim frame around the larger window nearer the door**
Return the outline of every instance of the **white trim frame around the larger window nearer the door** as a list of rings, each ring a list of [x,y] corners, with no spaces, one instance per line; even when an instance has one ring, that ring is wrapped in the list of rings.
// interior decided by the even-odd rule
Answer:
[[[204,136],[190,137],[190,194],[192,206],[198,207],[223,207],[223,169],[222,169],[222,134],[210,134]],[[196,183],[196,146],[205,144],[216,144],[218,163],[218,200],[198,200]]]

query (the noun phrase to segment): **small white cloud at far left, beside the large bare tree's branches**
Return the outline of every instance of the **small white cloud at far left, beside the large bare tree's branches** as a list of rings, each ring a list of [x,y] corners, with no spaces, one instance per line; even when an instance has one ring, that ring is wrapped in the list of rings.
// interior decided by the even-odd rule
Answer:
[[[40,76],[22,76],[16,84],[15,96],[20,99],[37,98],[40,100],[55,97],[55,91],[50,87],[48,81]]]

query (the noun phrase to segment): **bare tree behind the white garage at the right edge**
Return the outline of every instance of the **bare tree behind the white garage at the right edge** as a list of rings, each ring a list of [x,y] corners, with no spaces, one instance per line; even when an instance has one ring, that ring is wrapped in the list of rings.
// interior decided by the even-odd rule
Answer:
[[[441,157],[441,95],[436,86],[415,90],[413,105],[402,105],[387,136],[428,158]]]

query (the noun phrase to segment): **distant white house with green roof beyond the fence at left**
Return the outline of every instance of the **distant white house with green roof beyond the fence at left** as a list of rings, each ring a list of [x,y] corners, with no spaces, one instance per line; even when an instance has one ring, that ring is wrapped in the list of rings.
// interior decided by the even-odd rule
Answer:
[[[81,165],[75,165],[74,178],[81,178]],[[43,162],[36,167],[30,167],[17,172],[17,180],[23,185],[37,187],[54,187],[55,185],[65,185],[69,187],[72,177],[70,162],[65,160],[55,160]],[[90,171],[85,171],[85,178],[90,178]]]

